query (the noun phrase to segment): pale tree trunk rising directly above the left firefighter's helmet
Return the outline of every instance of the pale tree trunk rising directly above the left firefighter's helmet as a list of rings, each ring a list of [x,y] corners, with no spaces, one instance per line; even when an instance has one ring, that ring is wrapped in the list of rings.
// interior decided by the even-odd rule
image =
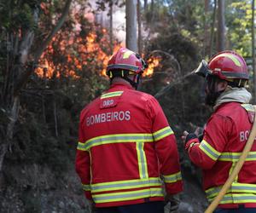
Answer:
[[[125,1],[126,48],[137,52],[137,1]]]

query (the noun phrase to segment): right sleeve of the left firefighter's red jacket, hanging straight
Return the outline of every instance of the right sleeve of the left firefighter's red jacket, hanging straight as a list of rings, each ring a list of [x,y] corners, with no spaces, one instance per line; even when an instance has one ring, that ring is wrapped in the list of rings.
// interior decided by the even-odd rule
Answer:
[[[180,193],[183,182],[180,171],[177,142],[166,116],[155,99],[149,102],[149,111],[153,120],[155,151],[160,162],[160,173],[169,194]]]

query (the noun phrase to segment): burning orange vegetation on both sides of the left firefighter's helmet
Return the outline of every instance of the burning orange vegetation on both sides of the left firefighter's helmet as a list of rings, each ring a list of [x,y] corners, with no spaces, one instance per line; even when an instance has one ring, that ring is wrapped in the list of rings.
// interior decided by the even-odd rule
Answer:
[[[42,4],[41,8],[45,14],[49,13],[46,4]],[[78,9],[73,9],[76,10]],[[90,23],[81,11],[73,12],[72,16],[69,25],[73,26],[73,31],[70,32],[64,27],[56,34],[39,61],[36,69],[38,77],[76,79],[92,72],[106,76],[108,59],[113,54],[110,52],[107,29]],[[66,27],[70,29],[70,26]],[[115,41],[113,52],[120,47],[121,44]],[[151,77],[154,67],[159,64],[160,58],[151,56],[148,60],[148,69],[143,76]]]

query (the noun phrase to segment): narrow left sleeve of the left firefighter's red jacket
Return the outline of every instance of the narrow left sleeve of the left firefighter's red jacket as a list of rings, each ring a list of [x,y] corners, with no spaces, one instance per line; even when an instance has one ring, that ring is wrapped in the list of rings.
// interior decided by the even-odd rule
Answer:
[[[83,119],[80,117],[79,123],[79,144],[76,153],[76,171],[80,177],[83,185],[84,193],[87,199],[91,198],[90,193],[90,153],[84,150],[84,130],[83,130]]]

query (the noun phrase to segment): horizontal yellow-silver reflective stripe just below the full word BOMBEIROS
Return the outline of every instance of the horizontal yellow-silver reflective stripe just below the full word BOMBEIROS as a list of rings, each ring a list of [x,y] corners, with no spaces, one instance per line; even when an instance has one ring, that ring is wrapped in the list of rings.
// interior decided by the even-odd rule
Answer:
[[[118,135],[103,135],[91,138],[85,143],[79,143],[78,149],[85,151],[90,147],[95,147],[109,143],[123,143],[123,142],[152,142],[154,141],[152,134],[118,134]]]

